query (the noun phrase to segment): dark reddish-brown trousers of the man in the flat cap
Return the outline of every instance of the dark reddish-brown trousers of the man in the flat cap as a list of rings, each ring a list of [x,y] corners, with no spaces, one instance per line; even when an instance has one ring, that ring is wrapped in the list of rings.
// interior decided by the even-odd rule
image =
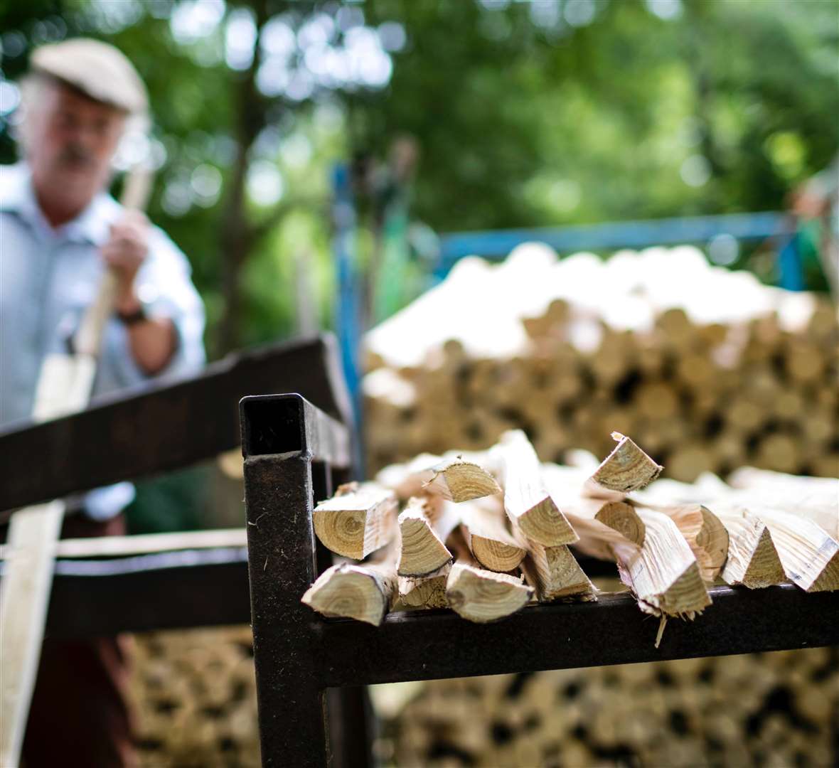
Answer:
[[[5,527],[5,526],[3,526]],[[125,519],[65,517],[62,539],[117,536]],[[0,531],[6,538],[6,530]],[[129,638],[44,639],[23,739],[26,768],[135,765],[128,703]]]

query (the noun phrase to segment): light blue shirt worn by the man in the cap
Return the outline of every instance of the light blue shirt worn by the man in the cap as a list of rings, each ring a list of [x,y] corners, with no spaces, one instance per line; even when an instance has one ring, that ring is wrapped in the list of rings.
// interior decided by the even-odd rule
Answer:
[[[103,192],[73,221],[53,229],[27,166],[0,165],[0,425],[32,414],[41,363],[47,353],[67,351],[102,279],[100,248],[122,212]],[[178,333],[175,353],[158,376],[200,370],[204,307],[184,254],[158,227],[149,232],[149,253],[134,285],[149,315],[169,317]],[[128,329],[116,317],[107,321],[93,395],[148,379],[132,357]],[[131,483],[117,483],[86,494],[84,504],[88,515],[107,520],[133,497]]]

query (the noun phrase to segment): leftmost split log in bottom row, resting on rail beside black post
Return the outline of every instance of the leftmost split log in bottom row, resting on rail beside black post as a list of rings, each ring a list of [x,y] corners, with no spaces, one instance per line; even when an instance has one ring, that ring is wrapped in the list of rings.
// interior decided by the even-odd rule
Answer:
[[[393,560],[374,565],[342,562],[321,573],[302,602],[324,616],[378,626],[398,594]]]

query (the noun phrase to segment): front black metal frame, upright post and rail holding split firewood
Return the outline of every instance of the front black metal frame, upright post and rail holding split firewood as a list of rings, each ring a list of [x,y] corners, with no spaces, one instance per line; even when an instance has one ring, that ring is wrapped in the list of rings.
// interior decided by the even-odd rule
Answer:
[[[839,593],[805,594],[791,584],[713,588],[705,614],[671,620],[658,649],[659,622],[627,593],[529,606],[498,624],[472,624],[447,610],[389,614],[379,627],[324,619],[300,597],[328,563],[317,556],[311,512],[347,467],[349,457],[336,450],[347,440],[299,395],[245,398],[240,407],[263,765],[370,764],[360,738],[330,754],[331,687],[839,644]],[[358,709],[355,719],[343,714],[355,724],[345,733],[359,737]]]

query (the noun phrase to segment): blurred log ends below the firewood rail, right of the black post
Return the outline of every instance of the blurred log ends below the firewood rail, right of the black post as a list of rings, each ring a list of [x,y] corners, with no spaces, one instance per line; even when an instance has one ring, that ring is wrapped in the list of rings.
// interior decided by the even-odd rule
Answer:
[[[837,648],[372,692],[383,765],[836,765]]]

